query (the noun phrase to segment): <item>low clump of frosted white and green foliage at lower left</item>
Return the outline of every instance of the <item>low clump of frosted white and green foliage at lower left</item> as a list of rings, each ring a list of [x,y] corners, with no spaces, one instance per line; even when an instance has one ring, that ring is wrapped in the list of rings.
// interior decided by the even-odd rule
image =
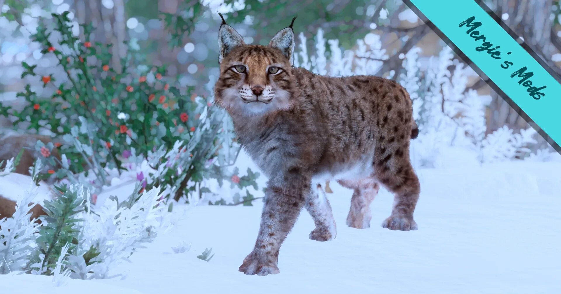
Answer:
[[[154,161],[157,160],[151,160]],[[40,166],[41,161],[36,161],[35,170]],[[165,170],[164,166],[159,171]],[[146,180],[155,183],[158,176],[154,172]],[[61,195],[43,204],[47,215],[39,217],[40,226],[29,220],[30,208],[22,206],[35,197],[34,189],[30,189],[19,200],[13,217],[0,221],[0,273],[27,270],[55,275],[59,282],[65,276],[110,277],[115,265],[171,225],[165,215],[168,206],[163,203],[163,195],[169,192],[140,182],[134,187],[126,197],[112,195],[99,206],[91,206],[90,191],[80,183],[70,184],[67,189],[58,187]]]

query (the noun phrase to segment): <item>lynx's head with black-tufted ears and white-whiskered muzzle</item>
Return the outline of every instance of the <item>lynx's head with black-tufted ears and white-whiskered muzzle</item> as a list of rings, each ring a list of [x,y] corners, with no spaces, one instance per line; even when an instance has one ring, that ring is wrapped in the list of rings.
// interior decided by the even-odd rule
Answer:
[[[268,46],[246,45],[232,27],[219,30],[220,77],[215,85],[218,106],[238,115],[263,115],[292,104],[291,27],[278,32]],[[290,50],[287,51],[286,49]]]

